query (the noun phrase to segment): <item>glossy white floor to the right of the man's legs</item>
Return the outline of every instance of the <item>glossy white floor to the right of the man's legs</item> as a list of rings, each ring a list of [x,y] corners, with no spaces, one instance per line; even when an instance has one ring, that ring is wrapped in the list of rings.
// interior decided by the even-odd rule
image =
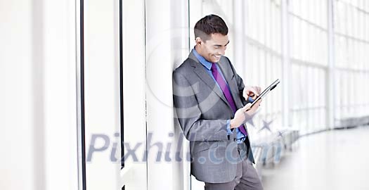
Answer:
[[[262,177],[265,190],[369,189],[369,127],[302,137]]]

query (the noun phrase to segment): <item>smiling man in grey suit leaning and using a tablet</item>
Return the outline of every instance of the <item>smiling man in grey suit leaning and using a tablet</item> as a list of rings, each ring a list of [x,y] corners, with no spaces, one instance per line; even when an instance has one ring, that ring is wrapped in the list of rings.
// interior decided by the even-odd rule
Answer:
[[[245,87],[224,56],[228,27],[217,15],[195,25],[195,48],[173,73],[174,106],[190,141],[191,174],[205,189],[263,189],[250,148],[245,121],[259,87]]]

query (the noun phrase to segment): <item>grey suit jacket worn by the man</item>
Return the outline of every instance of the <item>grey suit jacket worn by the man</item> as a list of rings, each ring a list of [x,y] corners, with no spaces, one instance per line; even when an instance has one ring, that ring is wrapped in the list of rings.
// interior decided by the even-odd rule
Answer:
[[[231,89],[235,106],[242,108],[247,103],[242,96],[245,87],[242,78],[225,56],[221,57],[219,68]],[[173,90],[176,117],[190,141],[191,174],[202,182],[231,182],[239,160],[236,134],[227,135],[226,124],[234,113],[192,51],[173,72]],[[245,144],[250,147],[248,135]],[[249,159],[254,163],[249,150]]]

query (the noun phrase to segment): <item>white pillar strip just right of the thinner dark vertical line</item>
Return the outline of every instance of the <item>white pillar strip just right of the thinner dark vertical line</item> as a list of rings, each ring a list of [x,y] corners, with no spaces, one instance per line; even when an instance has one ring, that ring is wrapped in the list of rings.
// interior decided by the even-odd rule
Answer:
[[[142,145],[135,151],[138,162],[132,157],[124,160],[120,182],[121,186],[125,185],[125,189],[146,190],[147,164],[142,161],[146,148],[144,0],[122,1],[122,54],[124,144],[129,144],[130,148]],[[118,91],[116,93],[119,94]],[[124,154],[127,153],[126,145]]]

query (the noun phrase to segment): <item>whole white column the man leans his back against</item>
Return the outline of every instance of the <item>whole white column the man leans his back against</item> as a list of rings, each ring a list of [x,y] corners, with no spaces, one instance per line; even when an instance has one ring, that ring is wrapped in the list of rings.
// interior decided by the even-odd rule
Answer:
[[[148,0],[145,6],[147,164],[150,189],[189,188],[189,163],[184,164],[175,157],[176,151],[179,151],[177,144],[181,129],[174,126],[172,102],[173,69],[188,56],[187,2]],[[161,156],[157,157],[157,154]]]

